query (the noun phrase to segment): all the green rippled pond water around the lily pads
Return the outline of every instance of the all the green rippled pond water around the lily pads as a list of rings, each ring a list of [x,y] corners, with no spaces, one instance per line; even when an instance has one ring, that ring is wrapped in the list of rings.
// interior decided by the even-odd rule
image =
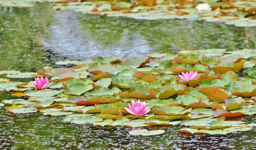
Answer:
[[[12,12],[0,7],[0,70],[35,72],[44,66],[60,67],[56,61],[95,56],[128,58],[202,48],[255,49],[255,35],[255,27],[84,15],[54,11],[49,3],[13,8]],[[19,98],[9,92],[0,92],[0,97],[0,101]],[[255,128],[229,135],[195,136],[180,135],[180,126],[175,125],[149,127],[163,128],[164,134],[133,136],[128,134],[129,128],[71,125],[62,122],[63,118],[11,115],[1,108],[0,149],[256,149]],[[256,122],[255,116],[232,119]]]

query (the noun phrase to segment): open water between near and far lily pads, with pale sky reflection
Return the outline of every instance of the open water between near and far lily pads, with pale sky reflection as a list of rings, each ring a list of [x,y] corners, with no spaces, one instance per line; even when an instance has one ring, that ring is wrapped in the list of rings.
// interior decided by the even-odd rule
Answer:
[[[132,57],[187,49],[254,49],[256,28],[185,20],[133,20],[54,11],[50,4],[0,11],[1,69],[36,71],[60,60]],[[32,63],[31,63],[32,61]],[[19,62],[19,63],[17,63]]]

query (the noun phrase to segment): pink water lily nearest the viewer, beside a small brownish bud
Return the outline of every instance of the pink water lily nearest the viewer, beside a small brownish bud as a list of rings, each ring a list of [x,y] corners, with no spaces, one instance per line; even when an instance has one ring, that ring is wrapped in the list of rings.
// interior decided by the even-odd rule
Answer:
[[[129,108],[126,108],[126,111],[128,111],[130,114],[135,115],[135,116],[141,116],[141,115],[145,115],[146,113],[148,113],[150,111],[150,109],[145,108],[147,105],[146,102],[140,102],[140,100],[138,100],[137,102],[134,102],[132,100],[132,106],[130,104],[128,104]]]

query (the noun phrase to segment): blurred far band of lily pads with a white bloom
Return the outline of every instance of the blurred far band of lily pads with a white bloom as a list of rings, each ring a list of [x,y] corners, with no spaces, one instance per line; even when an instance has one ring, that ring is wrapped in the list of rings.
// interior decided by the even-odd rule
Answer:
[[[85,14],[128,17],[142,20],[189,19],[225,22],[227,25],[256,26],[254,0],[2,0],[2,6],[29,7],[36,2],[52,2],[55,10]]]

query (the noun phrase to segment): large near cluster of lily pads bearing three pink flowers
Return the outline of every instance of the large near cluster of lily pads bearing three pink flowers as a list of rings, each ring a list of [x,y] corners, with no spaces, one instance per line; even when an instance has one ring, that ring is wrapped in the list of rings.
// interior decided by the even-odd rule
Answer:
[[[36,78],[36,82],[1,79],[0,90],[22,99],[3,100],[0,106],[11,104],[4,108],[15,114],[66,115],[63,121],[72,124],[102,127],[179,124],[180,132],[190,134],[247,131],[256,124],[225,119],[256,114],[255,57],[256,50],[202,49],[130,59],[95,57],[88,61],[59,61],[56,62],[59,65],[74,66],[44,67],[36,73],[0,71],[6,78],[44,76],[50,82],[46,78]]]

